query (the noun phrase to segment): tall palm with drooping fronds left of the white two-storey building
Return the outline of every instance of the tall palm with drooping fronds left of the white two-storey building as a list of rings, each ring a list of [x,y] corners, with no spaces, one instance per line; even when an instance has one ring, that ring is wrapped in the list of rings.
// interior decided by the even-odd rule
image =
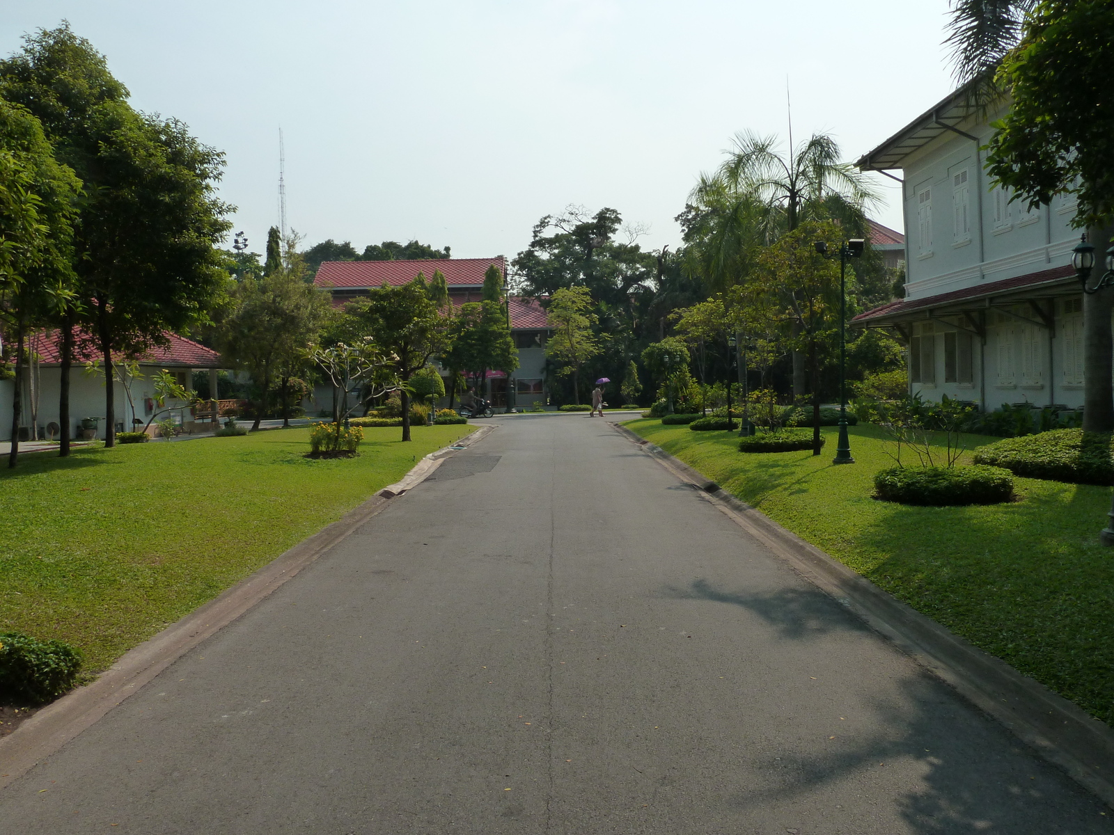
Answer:
[[[695,216],[688,268],[710,288],[739,283],[758,247],[772,244],[805,220],[832,219],[864,230],[864,209],[878,199],[867,176],[840,161],[839,145],[815,134],[788,158],[775,137],[741,131],[714,175],[702,175],[690,195]],[[793,352],[793,394],[805,393],[804,355]]]

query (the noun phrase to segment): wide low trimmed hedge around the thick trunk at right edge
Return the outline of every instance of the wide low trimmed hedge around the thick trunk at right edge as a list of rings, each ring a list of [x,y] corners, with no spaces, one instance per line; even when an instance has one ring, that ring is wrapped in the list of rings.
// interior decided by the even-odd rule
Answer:
[[[987,444],[975,452],[975,463],[1001,466],[1028,479],[1111,485],[1112,445],[1112,436],[1104,433],[1057,429]]]

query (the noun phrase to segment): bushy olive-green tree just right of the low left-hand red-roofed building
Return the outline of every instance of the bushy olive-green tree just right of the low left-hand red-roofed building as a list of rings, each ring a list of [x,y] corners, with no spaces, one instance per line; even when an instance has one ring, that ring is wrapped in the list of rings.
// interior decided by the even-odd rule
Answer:
[[[301,375],[309,363],[306,351],[332,312],[328,293],[304,279],[293,237],[286,242],[286,255],[289,266],[280,259],[274,273],[236,285],[233,312],[221,328],[222,353],[260,387],[253,431],[266,413],[274,383],[285,389]]]

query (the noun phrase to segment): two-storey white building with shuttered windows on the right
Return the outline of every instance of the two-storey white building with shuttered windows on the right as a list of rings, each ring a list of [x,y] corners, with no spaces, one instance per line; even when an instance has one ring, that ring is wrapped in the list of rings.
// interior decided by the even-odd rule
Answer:
[[[958,91],[858,160],[901,181],[906,296],[854,322],[908,345],[910,393],[1082,407],[1075,202],[1029,210],[991,186],[980,148],[1000,115]]]

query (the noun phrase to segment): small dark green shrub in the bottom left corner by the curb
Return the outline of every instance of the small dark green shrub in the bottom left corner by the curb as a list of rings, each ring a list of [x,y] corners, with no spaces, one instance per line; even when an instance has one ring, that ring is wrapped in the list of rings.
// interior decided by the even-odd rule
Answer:
[[[74,686],[81,654],[57,640],[0,632],[0,701],[40,704]]]

